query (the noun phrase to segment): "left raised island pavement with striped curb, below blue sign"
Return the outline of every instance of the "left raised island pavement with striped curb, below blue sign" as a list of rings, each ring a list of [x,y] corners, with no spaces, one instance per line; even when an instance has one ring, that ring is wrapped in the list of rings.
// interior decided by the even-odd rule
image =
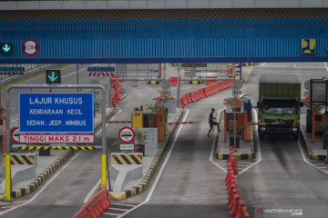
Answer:
[[[113,113],[112,108],[108,108],[106,110],[106,117],[108,117]],[[101,114],[96,114],[95,117],[95,132],[101,128],[102,119]],[[56,144],[57,146],[64,144]],[[39,187],[42,183],[46,181],[46,179],[52,174],[55,173],[56,169],[59,168],[62,164],[64,164],[69,157],[74,154],[74,151],[63,151],[63,150],[52,150],[50,152],[50,156],[39,156],[38,151],[36,151],[36,177],[31,178],[19,183],[12,184],[12,196],[14,198],[18,198],[21,196],[25,196],[28,193],[33,193],[36,191],[37,187]],[[3,156],[0,157],[0,161],[3,163]],[[12,166],[12,172],[13,172]],[[0,183],[5,180],[5,166],[0,167]],[[0,194],[0,201],[4,201],[5,194]]]

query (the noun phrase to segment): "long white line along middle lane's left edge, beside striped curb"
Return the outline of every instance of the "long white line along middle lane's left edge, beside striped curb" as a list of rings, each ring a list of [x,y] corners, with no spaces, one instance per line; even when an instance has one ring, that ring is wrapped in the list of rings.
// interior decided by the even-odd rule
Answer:
[[[188,116],[188,114],[189,114],[189,110],[186,109],[186,108],[183,109],[183,110],[186,110],[186,111],[187,111],[187,113],[184,115],[183,120],[182,120],[182,122],[185,122],[185,121],[186,121],[186,118],[187,118],[187,116]],[[177,138],[178,138],[178,136],[179,136],[179,133],[181,132],[182,127],[183,127],[183,125],[179,125],[178,132],[177,132],[177,134],[175,135],[175,137],[174,137],[174,139],[173,139],[173,142],[172,142],[172,144],[171,144],[171,146],[170,146],[170,148],[169,148],[169,153],[167,154],[167,156],[166,156],[166,158],[165,158],[165,160],[164,160],[164,163],[162,164],[162,166],[161,166],[160,169],[159,169],[159,173],[158,173],[158,175],[156,176],[156,179],[155,179],[153,185],[151,186],[151,189],[150,189],[150,191],[149,191],[149,194],[147,195],[146,200],[145,200],[143,203],[140,203],[140,204],[134,206],[133,208],[131,208],[130,210],[128,210],[126,213],[122,213],[122,214],[120,214],[117,218],[122,217],[122,216],[124,216],[124,215],[126,215],[126,214],[128,214],[128,213],[130,213],[130,212],[132,212],[132,211],[134,211],[134,210],[136,210],[138,207],[142,206],[143,204],[149,202],[149,200],[150,200],[150,198],[151,198],[151,195],[154,193],[154,190],[155,190],[157,184],[159,183],[159,178],[160,178],[161,174],[163,173],[163,170],[164,170],[166,164],[167,164],[168,161],[169,161],[169,156],[170,156],[170,154],[171,154],[172,151],[173,151],[174,145],[175,145],[176,142],[177,142]]]

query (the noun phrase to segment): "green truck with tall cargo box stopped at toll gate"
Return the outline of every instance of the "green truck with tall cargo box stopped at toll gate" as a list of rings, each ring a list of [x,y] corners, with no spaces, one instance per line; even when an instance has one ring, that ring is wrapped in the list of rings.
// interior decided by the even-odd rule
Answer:
[[[259,75],[259,138],[265,134],[300,133],[301,81],[297,74]]]

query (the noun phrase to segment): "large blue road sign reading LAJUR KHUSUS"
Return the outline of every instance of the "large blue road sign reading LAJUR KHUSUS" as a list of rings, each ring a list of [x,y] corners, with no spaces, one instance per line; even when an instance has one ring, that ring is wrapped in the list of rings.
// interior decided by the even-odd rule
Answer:
[[[92,93],[19,93],[20,133],[93,133]]]

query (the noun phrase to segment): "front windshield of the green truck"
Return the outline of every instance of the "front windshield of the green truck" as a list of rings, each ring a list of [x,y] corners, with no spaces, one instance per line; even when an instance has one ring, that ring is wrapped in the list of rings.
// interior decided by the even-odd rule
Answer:
[[[295,100],[264,99],[261,111],[268,114],[297,114],[296,103]]]

